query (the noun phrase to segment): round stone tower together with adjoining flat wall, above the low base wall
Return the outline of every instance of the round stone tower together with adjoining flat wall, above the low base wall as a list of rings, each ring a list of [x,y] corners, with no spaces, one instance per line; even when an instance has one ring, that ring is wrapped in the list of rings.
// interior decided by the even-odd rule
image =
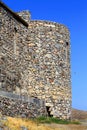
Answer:
[[[68,29],[31,21],[0,6],[0,90],[45,101],[49,116],[71,117],[70,40]]]

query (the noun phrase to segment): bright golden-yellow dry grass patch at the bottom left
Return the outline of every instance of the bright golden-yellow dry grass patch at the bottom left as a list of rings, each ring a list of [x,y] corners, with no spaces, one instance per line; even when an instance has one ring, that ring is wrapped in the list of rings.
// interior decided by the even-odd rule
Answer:
[[[53,130],[49,126],[36,124],[31,120],[12,117],[8,117],[8,121],[4,122],[4,125],[8,126],[11,130],[21,130],[22,126],[28,128],[28,130]]]

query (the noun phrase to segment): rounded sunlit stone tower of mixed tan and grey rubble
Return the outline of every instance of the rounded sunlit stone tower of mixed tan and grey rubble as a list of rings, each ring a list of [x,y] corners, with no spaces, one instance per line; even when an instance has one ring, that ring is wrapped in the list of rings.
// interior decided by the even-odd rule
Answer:
[[[70,41],[64,25],[29,23],[29,92],[46,101],[50,114],[68,119],[71,113]]]

